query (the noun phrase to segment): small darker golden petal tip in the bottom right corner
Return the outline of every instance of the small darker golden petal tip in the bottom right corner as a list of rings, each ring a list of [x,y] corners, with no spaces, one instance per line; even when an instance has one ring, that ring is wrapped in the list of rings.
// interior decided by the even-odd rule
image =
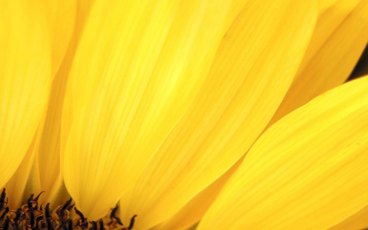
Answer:
[[[368,205],[328,230],[357,230],[368,227]]]

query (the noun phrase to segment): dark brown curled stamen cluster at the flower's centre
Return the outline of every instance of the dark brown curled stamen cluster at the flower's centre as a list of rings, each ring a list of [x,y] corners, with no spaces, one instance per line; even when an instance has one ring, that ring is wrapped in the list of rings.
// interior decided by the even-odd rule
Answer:
[[[53,211],[50,210],[50,203],[45,208],[38,206],[37,197],[33,198],[33,194],[28,198],[27,204],[20,208],[10,210],[8,207],[8,198],[6,197],[5,188],[0,195],[0,230],[130,230],[133,228],[134,215],[128,227],[123,227],[123,223],[116,216],[118,207],[110,210],[109,215],[103,217],[99,221],[88,221],[83,213],[75,208],[72,199],[69,199],[63,206],[58,206]],[[74,218],[70,217],[72,210],[75,211]]]

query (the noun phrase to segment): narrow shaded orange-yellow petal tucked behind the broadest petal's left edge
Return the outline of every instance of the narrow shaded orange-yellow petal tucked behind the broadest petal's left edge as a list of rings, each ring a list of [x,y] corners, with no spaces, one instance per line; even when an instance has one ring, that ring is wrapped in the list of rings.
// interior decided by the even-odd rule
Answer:
[[[45,191],[45,194],[39,199],[40,203],[51,202],[51,204],[54,204],[54,199],[60,193],[59,190],[63,185],[63,156],[60,155],[60,127],[64,95],[68,74],[75,50],[78,46],[81,30],[88,17],[89,8],[92,3],[93,1],[78,1],[77,14],[74,17],[76,26],[63,63],[53,81],[45,126],[40,140],[40,149],[33,168],[35,176],[35,187],[33,188],[35,191],[33,193],[37,194]]]

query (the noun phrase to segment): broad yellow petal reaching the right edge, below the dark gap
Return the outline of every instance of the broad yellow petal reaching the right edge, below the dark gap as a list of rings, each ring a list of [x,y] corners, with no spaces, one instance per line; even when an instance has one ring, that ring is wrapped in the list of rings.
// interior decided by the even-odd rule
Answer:
[[[368,77],[272,125],[198,229],[326,229],[368,204]]]

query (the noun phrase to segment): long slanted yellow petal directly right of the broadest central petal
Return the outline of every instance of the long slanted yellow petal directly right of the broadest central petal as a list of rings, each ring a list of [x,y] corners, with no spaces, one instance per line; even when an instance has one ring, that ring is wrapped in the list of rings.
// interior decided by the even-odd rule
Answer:
[[[315,19],[312,1],[251,0],[227,31],[206,81],[160,146],[122,219],[154,226],[226,172],[272,117],[300,64]],[[277,60],[277,61],[275,61]]]

